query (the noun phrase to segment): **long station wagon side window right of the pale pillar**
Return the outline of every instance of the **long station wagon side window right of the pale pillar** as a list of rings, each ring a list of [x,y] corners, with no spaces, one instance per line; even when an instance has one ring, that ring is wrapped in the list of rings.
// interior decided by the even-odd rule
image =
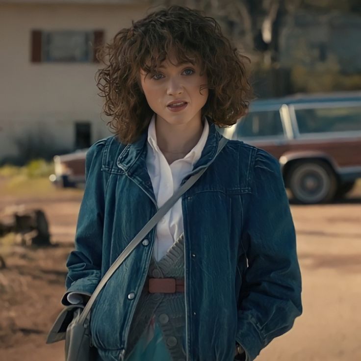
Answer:
[[[296,109],[302,133],[361,130],[361,106]]]

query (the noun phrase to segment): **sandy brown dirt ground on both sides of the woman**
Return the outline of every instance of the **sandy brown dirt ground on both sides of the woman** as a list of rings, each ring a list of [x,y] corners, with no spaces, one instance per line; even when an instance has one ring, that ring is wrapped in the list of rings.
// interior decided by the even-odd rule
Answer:
[[[0,360],[62,361],[63,342],[45,344],[61,309],[66,258],[73,247],[81,193],[1,197],[6,206],[40,207],[48,217],[47,248],[2,245],[0,271]],[[276,338],[257,361],[361,360],[361,189],[342,202],[291,205],[303,276],[303,315]]]

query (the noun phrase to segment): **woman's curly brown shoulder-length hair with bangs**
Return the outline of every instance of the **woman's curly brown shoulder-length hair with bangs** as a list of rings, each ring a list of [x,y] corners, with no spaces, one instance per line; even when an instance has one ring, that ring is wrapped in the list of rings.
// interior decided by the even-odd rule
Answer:
[[[173,5],[150,13],[121,29],[97,52],[105,65],[96,73],[103,112],[120,141],[134,142],[148,127],[153,110],[140,84],[140,69],[152,73],[174,51],[179,62],[201,63],[209,89],[202,116],[219,127],[246,114],[252,97],[245,61],[214,18],[199,10]],[[201,91],[202,89],[200,89]]]

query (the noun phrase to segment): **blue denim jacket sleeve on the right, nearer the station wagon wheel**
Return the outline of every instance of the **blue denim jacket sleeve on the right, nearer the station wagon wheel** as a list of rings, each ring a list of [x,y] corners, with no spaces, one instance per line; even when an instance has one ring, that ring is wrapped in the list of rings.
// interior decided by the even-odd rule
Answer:
[[[290,330],[302,313],[296,235],[278,160],[257,149],[252,178],[243,208],[242,245],[248,267],[236,334],[246,361],[254,360],[274,337]]]

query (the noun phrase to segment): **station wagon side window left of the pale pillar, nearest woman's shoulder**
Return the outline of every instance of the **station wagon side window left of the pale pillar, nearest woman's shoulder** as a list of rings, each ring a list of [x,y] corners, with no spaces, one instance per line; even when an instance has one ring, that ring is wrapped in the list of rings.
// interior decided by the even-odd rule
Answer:
[[[254,111],[243,117],[237,127],[237,137],[284,135],[279,110]]]

